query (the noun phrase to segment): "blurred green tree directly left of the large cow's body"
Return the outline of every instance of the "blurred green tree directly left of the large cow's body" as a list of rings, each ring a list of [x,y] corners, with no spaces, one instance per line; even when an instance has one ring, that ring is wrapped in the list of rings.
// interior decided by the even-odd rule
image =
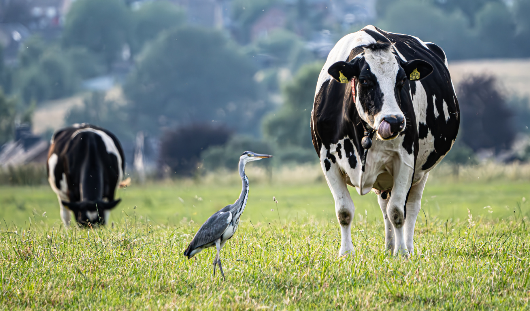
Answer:
[[[280,148],[298,146],[312,150],[311,110],[314,88],[322,70],[322,63],[304,65],[293,82],[282,88],[284,104],[279,111],[263,120],[263,134]]]

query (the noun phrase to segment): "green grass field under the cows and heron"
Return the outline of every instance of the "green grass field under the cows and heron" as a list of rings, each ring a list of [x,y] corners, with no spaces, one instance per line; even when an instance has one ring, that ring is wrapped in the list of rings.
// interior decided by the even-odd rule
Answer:
[[[237,198],[233,173],[133,184],[119,191],[113,224],[94,229],[65,229],[49,186],[2,186],[0,308],[528,309],[530,182],[431,176],[409,259],[385,252],[376,197],[351,189],[356,252],[338,257],[322,173],[297,170],[248,169],[248,206],[221,253],[224,281],[212,276],[213,249],[192,260],[182,252]]]

